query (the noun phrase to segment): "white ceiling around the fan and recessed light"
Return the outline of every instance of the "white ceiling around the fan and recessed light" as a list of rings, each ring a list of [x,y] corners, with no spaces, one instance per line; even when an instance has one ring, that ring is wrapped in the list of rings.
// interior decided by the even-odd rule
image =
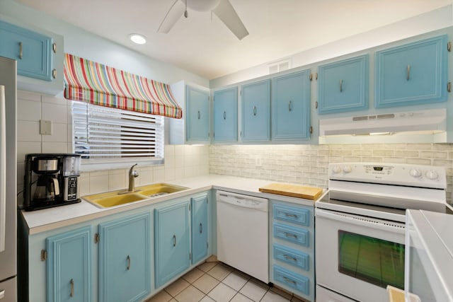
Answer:
[[[16,0],[206,79],[432,11],[452,0],[230,0],[250,35],[238,40],[217,16],[189,11],[157,29],[174,0]],[[188,0],[190,1],[190,0]],[[130,33],[147,37],[130,42]]]

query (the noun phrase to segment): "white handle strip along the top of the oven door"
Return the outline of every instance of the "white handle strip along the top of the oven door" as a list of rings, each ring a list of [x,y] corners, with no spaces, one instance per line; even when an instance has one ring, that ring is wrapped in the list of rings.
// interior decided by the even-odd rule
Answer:
[[[331,211],[326,211],[326,210],[318,209],[318,208],[316,209],[316,216],[335,220],[335,221],[340,221],[343,223],[354,224],[355,226],[365,226],[368,228],[377,228],[382,231],[399,233],[402,235],[404,235],[405,231],[406,231],[404,223],[398,223],[398,222],[394,222],[394,221],[391,221],[389,223],[382,223],[382,221],[379,221],[378,219],[372,219],[372,218],[367,218],[367,217],[355,218],[355,216],[351,216],[348,214],[343,214],[343,213],[336,214]]]

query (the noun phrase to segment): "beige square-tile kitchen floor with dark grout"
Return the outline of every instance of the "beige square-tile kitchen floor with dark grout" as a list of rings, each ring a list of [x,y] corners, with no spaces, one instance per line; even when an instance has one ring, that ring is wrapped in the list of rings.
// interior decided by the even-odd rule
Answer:
[[[302,302],[219,262],[205,262],[147,302]]]

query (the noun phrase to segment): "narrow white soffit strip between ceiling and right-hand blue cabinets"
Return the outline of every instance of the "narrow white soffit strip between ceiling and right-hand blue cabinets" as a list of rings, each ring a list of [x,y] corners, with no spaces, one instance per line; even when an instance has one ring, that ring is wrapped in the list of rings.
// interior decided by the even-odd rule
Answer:
[[[353,35],[342,40],[330,42],[310,50],[299,52],[290,57],[282,57],[281,59],[290,59],[292,68],[296,68],[320,62],[325,59],[340,57],[344,54],[367,50],[368,48],[384,45],[406,37],[429,33],[430,31],[447,28],[452,25],[453,6],[448,5],[404,21],[399,21],[381,28],[369,30],[366,33],[360,33],[359,35]],[[307,30],[316,30],[316,25],[314,25],[314,28],[309,28]],[[277,59],[275,61],[279,60]],[[212,79],[210,81],[210,88],[218,88],[231,85],[232,83],[255,79],[260,76],[266,76],[269,74],[268,63],[270,62],[265,62],[264,64],[244,69],[234,74],[228,74],[217,79]]]

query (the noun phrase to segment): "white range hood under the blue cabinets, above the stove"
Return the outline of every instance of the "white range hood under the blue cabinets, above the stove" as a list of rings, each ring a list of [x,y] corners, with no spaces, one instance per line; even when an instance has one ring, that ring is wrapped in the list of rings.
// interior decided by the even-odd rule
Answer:
[[[445,142],[447,110],[433,109],[319,120],[319,144]]]

